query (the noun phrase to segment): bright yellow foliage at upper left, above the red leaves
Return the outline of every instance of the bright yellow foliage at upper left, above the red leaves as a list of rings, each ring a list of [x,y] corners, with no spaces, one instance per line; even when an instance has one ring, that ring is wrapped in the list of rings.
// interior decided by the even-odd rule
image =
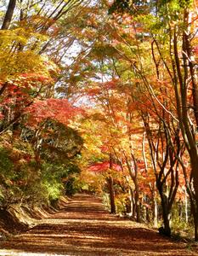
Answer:
[[[0,31],[0,79],[7,80],[17,73],[39,73],[49,75],[57,69],[39,50],[48,37],[32,28],[17,27]]]

